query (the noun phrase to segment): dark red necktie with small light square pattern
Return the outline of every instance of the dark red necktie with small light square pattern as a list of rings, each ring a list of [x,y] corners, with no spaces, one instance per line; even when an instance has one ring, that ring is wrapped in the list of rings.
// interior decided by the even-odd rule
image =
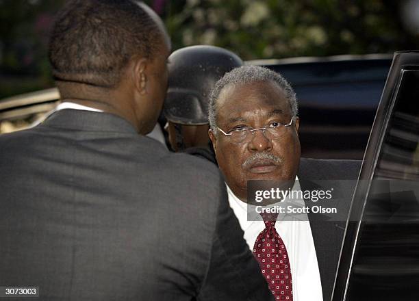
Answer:
[[[275,300],[292,301],[292,277],[288,252],[275,229],[278,214],[262,213],[261,215],[265,228],[257,235],[253,255],[268,281]]]

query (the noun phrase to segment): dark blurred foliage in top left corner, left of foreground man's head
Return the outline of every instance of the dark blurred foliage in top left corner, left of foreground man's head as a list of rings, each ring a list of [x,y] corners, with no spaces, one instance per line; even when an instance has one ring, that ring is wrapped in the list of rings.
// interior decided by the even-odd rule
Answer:
[[[0,98],[53,85],[47,44],[60,2],[0,0]]]

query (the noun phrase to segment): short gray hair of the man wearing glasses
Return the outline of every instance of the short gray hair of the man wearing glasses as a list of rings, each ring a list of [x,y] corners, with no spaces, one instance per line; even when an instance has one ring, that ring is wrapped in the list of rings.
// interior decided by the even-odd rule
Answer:
[[[272,71],[268,68],[261,66],[241,66],[226,73],[221,79],[219,79],[210,94],[210,107],[208,108],[208,121],[210,127],[214,133],[217,133],[217,114],[216,105],[218,97],[220,96],[221,90],[225,86],[243,85],[251,83],[253,81],[273,81],[285,92],[285,95],[290,102],[292,116],[295,117],[299,113],[298,104],[296,101],[296,95],[292,90],[290,83],[286,81],[279,73]]]

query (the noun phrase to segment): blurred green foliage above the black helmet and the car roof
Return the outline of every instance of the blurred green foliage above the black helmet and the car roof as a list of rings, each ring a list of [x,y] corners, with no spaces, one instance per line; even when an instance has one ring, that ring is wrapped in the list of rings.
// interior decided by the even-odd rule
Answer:
[[[164,20],[174,49],[214,44],[245,60],[393,53],[417,49],[385,0],[167,1]],[[409,42],[407,42],[409,41]]]

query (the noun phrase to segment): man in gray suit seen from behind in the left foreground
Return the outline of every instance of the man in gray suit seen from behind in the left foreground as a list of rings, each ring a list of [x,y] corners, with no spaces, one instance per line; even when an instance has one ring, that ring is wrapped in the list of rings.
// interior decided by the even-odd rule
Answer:
[[[0,137],[0,286],[37,286],[40,300],[271,298],[216,167],[144,136],[169,51],[142,3],[68,1],[49,51],[62,104]]]

